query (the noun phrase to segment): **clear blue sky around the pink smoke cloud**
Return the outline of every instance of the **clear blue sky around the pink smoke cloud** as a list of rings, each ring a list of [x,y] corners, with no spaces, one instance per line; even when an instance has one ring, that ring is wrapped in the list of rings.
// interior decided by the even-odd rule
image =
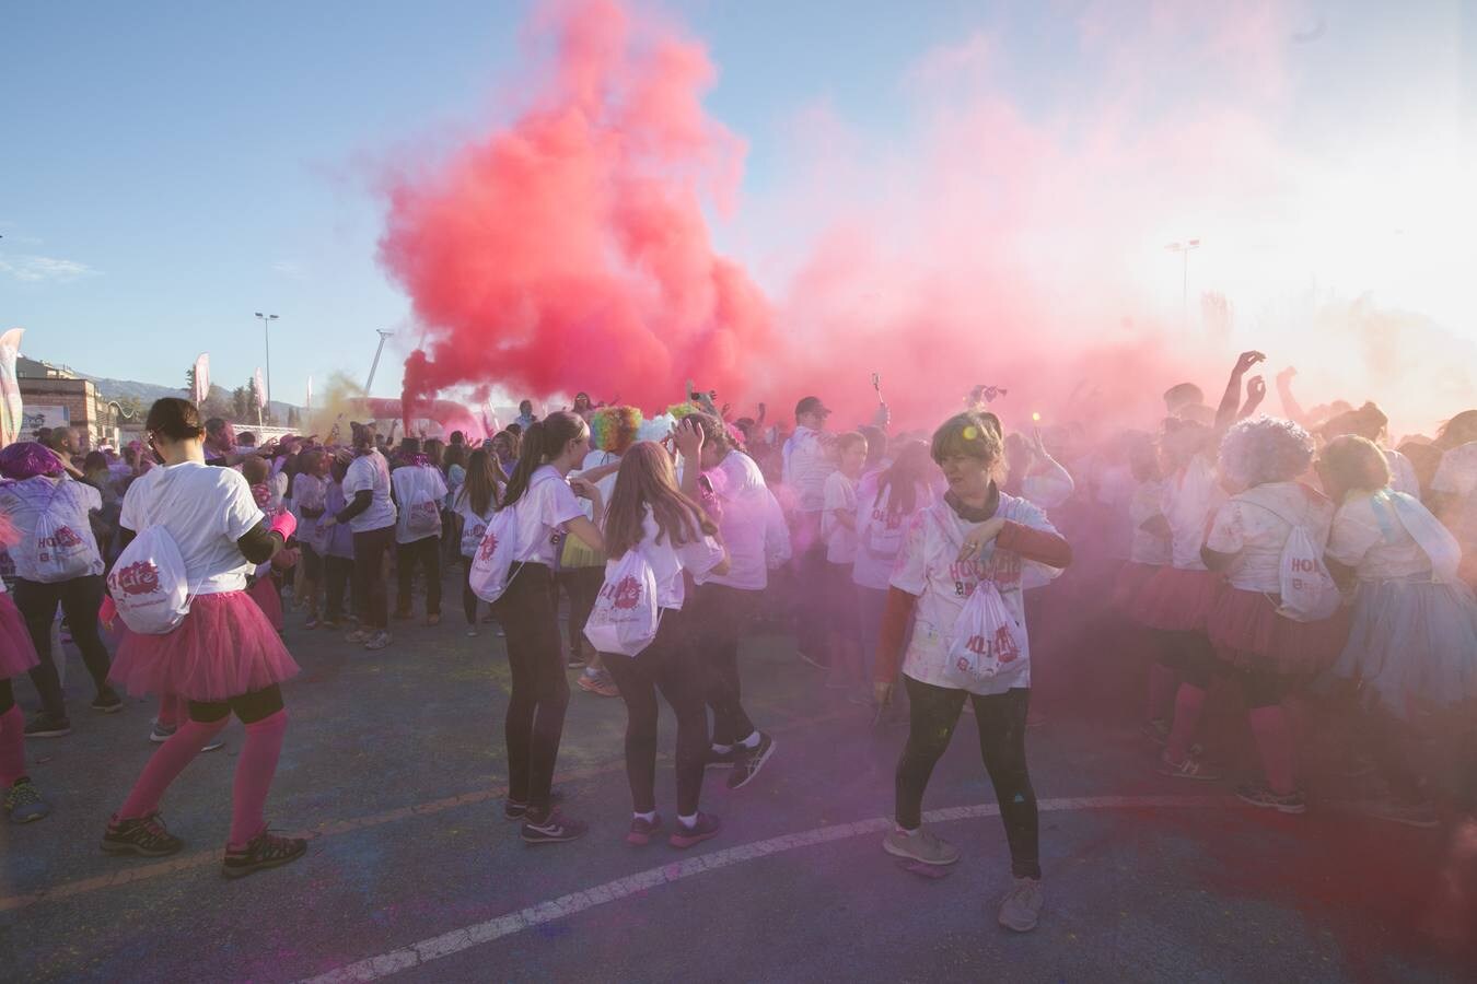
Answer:
[[[1066,7],[662,6],[719,66],[706,105],[749,142],[746,201],[783,184],[796,112],[824,105],[873,136],[902,133],[899,80],[975,31],[1009,46],[1007,86],[1027,112],[1090,81],[1074,77]],[[1363,10],[1344,22],[1341,47],[1303,69],[1294,112],[1313,131],[1328,111],[1378,97],[1378,74],[1350,75],[1371,55],[1399,60],[1453,24],[1447,47],[1471,38],[1450,3]],[[210,351],[214,381],[233,387],[263,361],[253,313],[266,310],[281,316],[275,398],[301,403],[310,373],[319,387],[332,370],[362,378],[375,329],[408,317],[375,263],[377,168],[418,143],[487,130],[498,87],[517,81],[524,15],[523,3],[486,0],[10,4],[0,326],[27,329],[28,356],[161,384],[183,385]],[[1362,146],[1341,133],[1323,142]],[[378,395],[399,391],[394,361]]]

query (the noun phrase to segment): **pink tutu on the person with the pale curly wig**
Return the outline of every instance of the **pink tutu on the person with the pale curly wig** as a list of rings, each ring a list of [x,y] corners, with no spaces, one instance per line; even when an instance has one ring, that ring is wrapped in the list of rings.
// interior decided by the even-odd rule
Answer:
[[[1245,670],[1279,674],[1313,674],[1331,667],[1349,640],[1349,609],[1331,618],[1300,623],[1276,612],[1261,592],[1226,587],[1216,599],[1207,626],[1216,655]]]

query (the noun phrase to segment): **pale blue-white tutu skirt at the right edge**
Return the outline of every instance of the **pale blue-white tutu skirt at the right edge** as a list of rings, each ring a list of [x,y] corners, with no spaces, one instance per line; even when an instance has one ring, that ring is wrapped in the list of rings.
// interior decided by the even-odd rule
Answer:
[[[1465,586],[1362,581],[1353,626],[1329,676],[1366,704],[1409,720],[1477,698],[1477,602]]]

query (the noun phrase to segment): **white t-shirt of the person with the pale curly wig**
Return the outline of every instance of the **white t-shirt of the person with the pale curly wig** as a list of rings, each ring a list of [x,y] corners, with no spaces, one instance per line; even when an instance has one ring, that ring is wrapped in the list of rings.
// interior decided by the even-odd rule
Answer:
[[[1238,555],[1226,569],[1232,587],[1276,593],[1282,587],[1282,549],[1292,536],[1292,522],[1309,531],[1315,547],[1325,546],[1334,503],[1301,482],[1257,485],[1216,510],[1205,546]]]

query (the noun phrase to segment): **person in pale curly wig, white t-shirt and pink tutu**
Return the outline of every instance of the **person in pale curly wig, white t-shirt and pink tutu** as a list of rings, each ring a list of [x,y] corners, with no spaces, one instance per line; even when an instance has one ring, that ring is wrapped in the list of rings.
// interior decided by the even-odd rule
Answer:
[[[1278,611],[1288,538],[1295,528],[1303,530],[1322,556],[1334,522],[1328,497],[1298,481],[1312,462],[1313,437],[1291,420],[1254,417],[1232,426],[1220,446],[1220,471],[1244,491],[1216,510],[1201,550],[1205,567],[1224,572],[1227,580],[1211,608],[1207,633],[1221,668],[1241,689],[1266,772],[1264,783],[1244,785],[1236,795],[1279,813],[1307,810],[1284,701],[1295,685],[1326,670],[1349,637],[1343,612],[1297,621]],[[1180,727],[1179,717],[1174,726]]]

